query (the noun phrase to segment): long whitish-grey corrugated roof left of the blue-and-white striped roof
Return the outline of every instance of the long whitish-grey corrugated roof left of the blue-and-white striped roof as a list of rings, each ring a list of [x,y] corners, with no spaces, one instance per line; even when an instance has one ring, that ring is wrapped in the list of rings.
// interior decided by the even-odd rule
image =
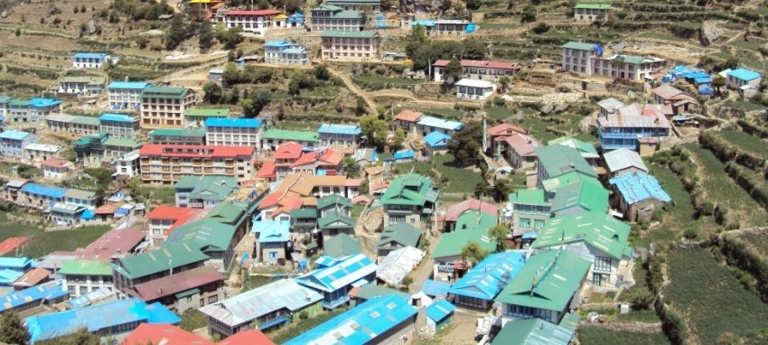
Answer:
[[[200,312],[229,326],[237,326],[281,309],[291,312],[300,310],[322,299],[321,294],[296,284],[294,279],[283,279],[220,303],[206,305],[200,308]]]

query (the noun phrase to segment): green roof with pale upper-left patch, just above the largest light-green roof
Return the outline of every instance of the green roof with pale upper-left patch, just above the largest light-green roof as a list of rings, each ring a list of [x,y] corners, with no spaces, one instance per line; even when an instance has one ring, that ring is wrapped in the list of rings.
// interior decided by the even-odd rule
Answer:
[[[545,180],[541,184],[548,193],[552,212],[567,210],[576,206],[585,210],[608,211],[610,193],[594,177],[571,172]]]

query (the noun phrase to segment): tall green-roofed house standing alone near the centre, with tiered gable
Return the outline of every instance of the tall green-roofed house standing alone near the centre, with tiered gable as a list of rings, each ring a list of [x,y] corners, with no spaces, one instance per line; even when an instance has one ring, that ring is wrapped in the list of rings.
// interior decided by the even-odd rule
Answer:
[[[398,223],[420,227],[423,219],[435,210],[439,192],[433,189],[432,179],[417,173],[400,175],[389,183],[381,196],[384,205],[384,228]]]

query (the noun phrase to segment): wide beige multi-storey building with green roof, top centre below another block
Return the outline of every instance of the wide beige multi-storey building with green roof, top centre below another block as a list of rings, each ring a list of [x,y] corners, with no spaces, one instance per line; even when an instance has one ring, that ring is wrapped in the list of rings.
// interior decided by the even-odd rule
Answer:
[[[323,60],[379,59],[381,36],[374,31],[323,31],[321,56]]]

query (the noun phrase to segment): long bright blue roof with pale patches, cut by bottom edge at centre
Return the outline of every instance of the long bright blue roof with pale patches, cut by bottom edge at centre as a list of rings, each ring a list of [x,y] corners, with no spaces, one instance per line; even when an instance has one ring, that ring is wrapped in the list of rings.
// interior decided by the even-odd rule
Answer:
[[[379,296],[323,322],[312,330],[286,342],[286,345],[344,344],[362,345],[373,343],[377,337],[409,322],[417,309],[406,300],[394,296]],[[339,337],[339,338],[337,338]]]

